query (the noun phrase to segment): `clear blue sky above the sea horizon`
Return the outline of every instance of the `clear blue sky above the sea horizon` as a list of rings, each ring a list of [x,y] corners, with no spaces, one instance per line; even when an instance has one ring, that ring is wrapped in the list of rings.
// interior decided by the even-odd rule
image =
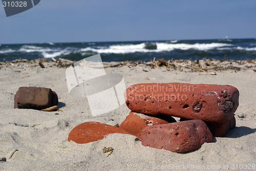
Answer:
[[[256,1],[41,0],[6,17],[0,44],[256,38]]]

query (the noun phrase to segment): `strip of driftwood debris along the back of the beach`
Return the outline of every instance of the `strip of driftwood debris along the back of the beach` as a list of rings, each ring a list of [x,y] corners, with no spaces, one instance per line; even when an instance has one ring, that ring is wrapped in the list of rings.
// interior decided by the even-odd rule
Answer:
[[[75,63],[76,61],[68,60],[68,59],[55,59],[48,60],[45,58],[35,59],[28,61],[27,59],[15,59],[13,61],[0,62],[0,66],[6,67],[18,67],[24,68],[26,63],[30,64],[29,67],[37,67],[38,63],[46,63],[48,67],[58,67],[58,68],[68,68],[70,65]],[[103,62],[104,68],[110,67],[136,67],[137,65],[143,67],[142,70],[145,72],[152,71],[151,69],[164,67],[167,71],[179,70],[186,72],[207,72],[207,71],[225,71],[225,70],[253,70],[256,71],[256,59],[251,60],[227,60],[226,57],[222,60],[218,59],[171,59],[165,60],[164,58],[144,62],[144,61],[113,61],[113,62]]]

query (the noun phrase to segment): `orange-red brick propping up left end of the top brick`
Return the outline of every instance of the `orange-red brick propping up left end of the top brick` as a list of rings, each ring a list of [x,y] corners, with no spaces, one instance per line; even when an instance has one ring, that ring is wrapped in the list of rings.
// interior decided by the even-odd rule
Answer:
[[[140,113],[130,112],[126,119],[120,124],[120,128],[131,133],[132,135],[141,138],[141,132],[144,127],[149,125],[158,125],[176,122],[171,116],[156,115],[148,116]]]

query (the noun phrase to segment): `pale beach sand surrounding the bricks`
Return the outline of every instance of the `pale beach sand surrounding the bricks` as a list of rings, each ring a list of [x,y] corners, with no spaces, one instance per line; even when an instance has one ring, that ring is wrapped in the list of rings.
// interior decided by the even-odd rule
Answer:
[[[130,111],[123,104],[112,112],[92,117],[86,100],[69,95],[66,69],[48,67],[47,63],[45,66],[45,69],[29,64],[22,68],[0,66],[0,158],[7,159],[0,162],[0,170],[255,169],[256,72],[252,70],[199,75],[198,72],[167,71],[166,68],[144,72],[143,65],[106,68],[106,72],[122,74],[126,88],[136,83],[187,82],[229,84],[239,90],[236,128],[224,138],[215,138],[214,143],[178,154],[145,147],[135,136],[124,134],[111,134],[87,144],[69,142],[68,135],[76,125],[87,121],[120,124]],[[14,95],[24,86],[51,88],[57,93],[63,112],[13,109]],[[113,153],[102,154],[102,148],[110,146]]]

